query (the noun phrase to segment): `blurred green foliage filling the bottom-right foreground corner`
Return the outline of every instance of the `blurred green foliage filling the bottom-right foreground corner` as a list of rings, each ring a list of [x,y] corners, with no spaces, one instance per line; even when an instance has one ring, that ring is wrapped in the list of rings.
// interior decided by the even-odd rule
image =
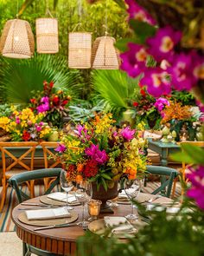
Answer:
[[[126,243],[118,242],[113,237],[107,238],[110,230],[107,230],[103,237],[87,232],[86,236],[78,240],[79,254],[81,256],[201,256],[204,254],[204,212],[190,201],[184,202],[181,211],[171,218],[165,211],[149,212],[148,218],[150,219],[143,220],[149,220],[149,225],[139,229],[136,237]]]

